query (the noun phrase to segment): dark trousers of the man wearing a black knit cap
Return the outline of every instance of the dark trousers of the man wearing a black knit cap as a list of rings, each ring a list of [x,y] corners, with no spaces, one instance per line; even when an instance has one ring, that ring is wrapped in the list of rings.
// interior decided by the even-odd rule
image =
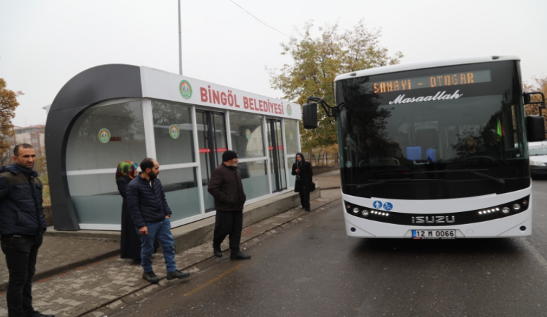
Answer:
[[[220,247],[224,238],[229,235],[230,251],[239,251],[241,230],[243,230],[243,211],[217,211],[212,244]]]

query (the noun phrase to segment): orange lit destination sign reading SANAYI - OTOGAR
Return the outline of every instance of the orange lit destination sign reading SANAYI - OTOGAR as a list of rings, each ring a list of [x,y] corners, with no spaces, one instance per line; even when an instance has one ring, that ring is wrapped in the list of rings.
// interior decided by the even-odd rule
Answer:
[[[383,92],[397,92],[410,89],[476,84],[479,82],[491,82],[491,80],[490,70],[478,70],[474,72],[431,75],[400,80],[389,80],[385,82],[373,82],[372,87],[375,94],[381,94]]]

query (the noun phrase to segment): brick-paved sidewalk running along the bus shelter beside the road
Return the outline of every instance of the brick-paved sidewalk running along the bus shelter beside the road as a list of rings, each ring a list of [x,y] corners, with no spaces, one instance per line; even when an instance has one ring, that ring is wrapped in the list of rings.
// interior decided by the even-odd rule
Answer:
[[[336,187],[336,174],[329,172],[315,175],[320,186]],[[337,180],[339,188],[339,178]],[[313,212],[319,212],[320,206],[339,199],[339,189],[323,190],[322,197],[311,201]],[[261,235],[271,235],[279,226],[298,223],[306,211],[300,208],[290,209],[276,216],[261,220],[244,228],[242,245],[252,244]],[[164,279],[166,272],[162,254],[155,254],[154,271],[162,280],[159,285],[150,285],[141,278],[142,268],[130,260],[119,259],[119,234],[107,235],[114,239],[66,236],[44,236],[44,244],[38,254],[37,282],[33,284],[34,306],[42,313],[54,313],[59,316],[83,316],[99,308],[89,316],[112,314],[126,304],[143,300],[145,294],[164,289],[169,282]],[[222,249],[228,249],[227,240]],[[196,263],[212,257],[210,241],[176,254],[179,269],[197,272]],[[0,290],[5,290],[8,271],[4,257],[0,257]],[[70,265],[69,265],[70,264]],[[75,266],[76,269],[67,271]],[[64,272],[66,271],[66,272]],[[64,273],[61,273],[64,272]],[[2,288],[3,287],[3,288]],[[108,304],[108,307],[105,305]],[[98,314],[97,314],[98,313]],[[0,293],[0,317],[7,316],[6,294]]]

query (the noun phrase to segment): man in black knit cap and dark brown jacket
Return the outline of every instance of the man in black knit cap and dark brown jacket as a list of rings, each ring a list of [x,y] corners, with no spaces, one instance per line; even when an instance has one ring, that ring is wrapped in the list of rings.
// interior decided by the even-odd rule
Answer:
[[[208,192],[215,198],[215,233],[212,239],[212,249],[215,256],[222,256],[220,244],[229,235],[230,259],[251,259],[239,251],[241,230],[243,230],[243,205],[246,196],[241,183],[241,175],[237,170],[237,153],[225,151],[222,154],[222,164],[212,171]]]

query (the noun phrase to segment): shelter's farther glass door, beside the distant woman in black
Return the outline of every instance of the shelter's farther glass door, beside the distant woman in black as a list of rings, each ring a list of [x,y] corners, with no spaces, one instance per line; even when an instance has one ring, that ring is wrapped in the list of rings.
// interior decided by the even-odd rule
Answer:
[[[287,174],[285,173],[285,156],[281,133],[281,120],[267,119],[268,153],[270,154],[270,178],[272,192],[287,189]]]

